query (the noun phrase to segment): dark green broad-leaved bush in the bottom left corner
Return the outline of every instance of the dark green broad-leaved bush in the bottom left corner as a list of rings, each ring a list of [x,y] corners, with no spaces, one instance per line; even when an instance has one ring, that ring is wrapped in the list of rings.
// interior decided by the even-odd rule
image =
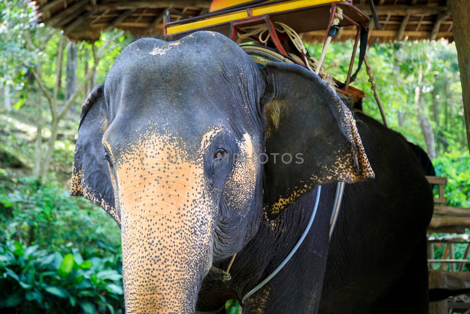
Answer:
[[[9,241],[0,244],[0,308],[19,313],[122,313],[122,274],[113,258],[84,260]],[[42,311],[41,311],[42,312]]]

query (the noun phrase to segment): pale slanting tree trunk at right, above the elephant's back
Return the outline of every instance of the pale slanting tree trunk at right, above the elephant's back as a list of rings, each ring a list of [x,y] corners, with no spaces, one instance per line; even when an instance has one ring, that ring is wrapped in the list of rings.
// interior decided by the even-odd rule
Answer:
[[[421,89],[423,88],[423,65],[420,64],[418,70],[418,84],[415,87],[415,108],[418,115],[418,123],[421,128],[421,132],[426,142],[426,150],[431,159],[436,158],[436,147],[434,144],[434,133],[432,132],[431,124],[426,114],[426,107],[424,105],[423,94]]]

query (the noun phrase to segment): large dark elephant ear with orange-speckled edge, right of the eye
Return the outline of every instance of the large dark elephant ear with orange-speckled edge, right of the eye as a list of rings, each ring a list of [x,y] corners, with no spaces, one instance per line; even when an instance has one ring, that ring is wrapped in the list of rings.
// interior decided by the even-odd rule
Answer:
[[[262,72],[268,218],[317,185],[374,178],[350,110],[318,75],[276,62]]]

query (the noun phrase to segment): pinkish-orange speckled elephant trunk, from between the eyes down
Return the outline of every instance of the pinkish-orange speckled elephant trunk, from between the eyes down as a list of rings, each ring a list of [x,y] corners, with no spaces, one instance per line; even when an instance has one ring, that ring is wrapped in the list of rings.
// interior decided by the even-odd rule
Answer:
[[[116,167],[126,313],[193,314],[212,264],[215,207],[203,169],[169,162],[169,142],[151,138]]]

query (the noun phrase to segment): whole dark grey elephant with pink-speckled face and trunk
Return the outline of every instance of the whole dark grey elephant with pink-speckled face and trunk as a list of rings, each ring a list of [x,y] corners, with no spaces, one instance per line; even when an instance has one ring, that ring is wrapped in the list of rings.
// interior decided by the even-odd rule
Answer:
[[[396,313],[413,295],[424,313],[430,186],[399,137],[356,119],[318,75],[259,67],[217,32],[123,49],[82,105],[71,195],[121,229],[126,313],[243,298],[290,253],[318,193],[305,241],[243,312]],[[231,262],[231,279],[214,271]]]

